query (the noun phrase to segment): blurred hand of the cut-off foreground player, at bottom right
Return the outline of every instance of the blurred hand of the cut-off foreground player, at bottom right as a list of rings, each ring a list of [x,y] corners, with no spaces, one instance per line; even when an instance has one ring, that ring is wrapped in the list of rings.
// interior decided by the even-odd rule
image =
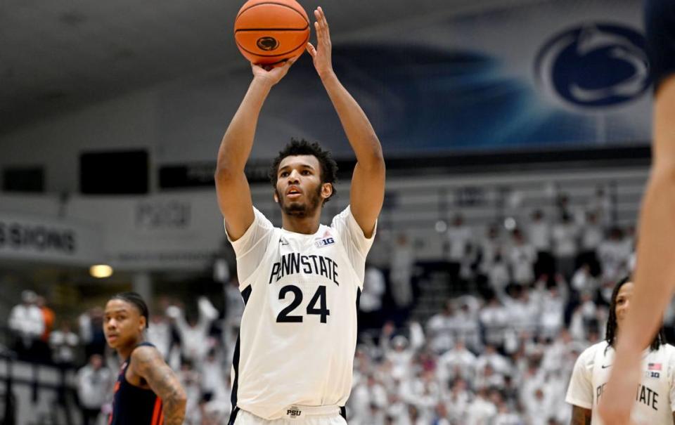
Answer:
[[[635,403],[635,390],[640,382],[640,357],[636,362],[626,360],[626,356],[617,355],[610,381],[600,398],[598,413],[605,424],[634,425],[631,410]],[[623,361],[622,361],[623,360]]]

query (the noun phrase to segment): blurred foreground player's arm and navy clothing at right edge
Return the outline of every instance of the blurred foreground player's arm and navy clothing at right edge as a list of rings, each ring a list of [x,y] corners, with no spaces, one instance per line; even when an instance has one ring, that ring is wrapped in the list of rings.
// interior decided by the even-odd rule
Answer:
[[[655,84],[652,169],[639,223],[633,307],[600,403],[605,424],[629,424],[641,355],[675,285],[675,2],[645,1],[645,30]]]

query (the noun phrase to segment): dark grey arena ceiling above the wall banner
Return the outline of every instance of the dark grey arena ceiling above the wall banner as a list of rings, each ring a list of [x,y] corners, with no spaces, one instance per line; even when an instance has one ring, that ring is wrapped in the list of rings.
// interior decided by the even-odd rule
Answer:
[[[402,20],[546,0],[302,0],[323,6],[334,43]],[[553,1],[553,0],[548,0]],[[4,0],[0,133],[165,81],[240,63],[243,0]]]

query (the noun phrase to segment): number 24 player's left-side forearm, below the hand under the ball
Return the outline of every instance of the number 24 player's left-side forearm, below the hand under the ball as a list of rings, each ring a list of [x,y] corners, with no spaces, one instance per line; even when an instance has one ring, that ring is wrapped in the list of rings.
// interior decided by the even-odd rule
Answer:
[[[225,131],[218,150],[218,173],[243,172],[253,147],[262,105],[272,84],[253,78],[239,109]]]

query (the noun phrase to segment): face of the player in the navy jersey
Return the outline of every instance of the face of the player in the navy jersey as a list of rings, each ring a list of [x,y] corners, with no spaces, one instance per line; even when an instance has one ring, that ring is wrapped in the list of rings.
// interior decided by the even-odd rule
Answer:
[[[146,326],[139,310],[121,299],[111,299],[103,313],[103,334],[110,348],[133,344]]]

